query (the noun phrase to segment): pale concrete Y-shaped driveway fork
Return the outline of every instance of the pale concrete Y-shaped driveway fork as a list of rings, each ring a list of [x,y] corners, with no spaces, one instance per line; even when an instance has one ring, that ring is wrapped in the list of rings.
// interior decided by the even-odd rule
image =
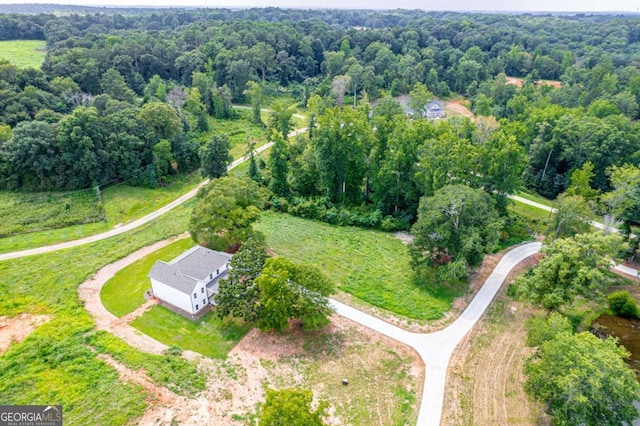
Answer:
[[[418,426],[439,426],[444,402],[444,387],[449,359],[462,338],[478,322],[509,272],[521,261],[540,250],[541,243],[528,243],[505,254],[462,315],[444,330],[434,333],[412,333],[335,300],[336,312],[415,349],[425,364]]]

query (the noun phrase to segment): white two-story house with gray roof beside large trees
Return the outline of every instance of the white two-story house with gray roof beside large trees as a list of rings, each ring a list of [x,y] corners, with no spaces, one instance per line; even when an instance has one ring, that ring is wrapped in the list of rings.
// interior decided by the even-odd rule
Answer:
[[[187,317],[206,313],[218,292],[218,281],[227,276],[232,255],[195,246],[171,262],[161,260],[149,271],[151,291],[167,308]]]

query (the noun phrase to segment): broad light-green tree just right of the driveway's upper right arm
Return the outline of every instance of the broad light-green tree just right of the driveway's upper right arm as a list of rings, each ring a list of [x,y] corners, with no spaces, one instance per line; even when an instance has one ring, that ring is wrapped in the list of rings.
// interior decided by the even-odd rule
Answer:
[[[578,234],[545,244],[537,267],[516,281],[517,295],[553,309],[570,304],[577,295],[601,298],[605,279],[602,269],[623,248],[617,235]]]

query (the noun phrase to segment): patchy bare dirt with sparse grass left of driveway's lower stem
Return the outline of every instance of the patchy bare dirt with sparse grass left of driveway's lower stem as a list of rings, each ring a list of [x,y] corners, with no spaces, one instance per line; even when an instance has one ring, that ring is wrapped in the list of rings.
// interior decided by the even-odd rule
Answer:
[[[295,323],[283,334],[253,330],[226,360],[201,358],[209,379],[192,398],[155,389],[144,371],[117,362],[114,368],[156,395],[138,423],[158,425],[244,425],[257,416],[267,388],[287,387],[310,388],[328,400],[332,425],[412,423],[424,377],[413,350],[338,315],[316,333],[302,333]]]

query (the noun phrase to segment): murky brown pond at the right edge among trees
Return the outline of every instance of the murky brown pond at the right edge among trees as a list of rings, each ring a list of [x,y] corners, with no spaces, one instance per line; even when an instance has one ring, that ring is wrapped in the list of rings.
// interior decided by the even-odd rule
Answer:
[[[631,352],[626,361],[640,381],[640,320],[602,315],[591,324],[591,332],[600,338],[617,337],[619,343]]]

